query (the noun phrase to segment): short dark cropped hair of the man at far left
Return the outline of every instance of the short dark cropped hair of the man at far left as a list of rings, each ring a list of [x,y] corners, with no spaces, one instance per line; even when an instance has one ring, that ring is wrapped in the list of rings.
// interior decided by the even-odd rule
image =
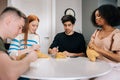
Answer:
[[[6,7],[2,13],[0,15],[3,15],[4,13],[7,13],[7,12],[13,12],[15,13],[17,16],[19,17],[22,17],[26,20],[26,15],[24,13],[22,13],[20,10],[18,10],[17,8],[15,7]]]

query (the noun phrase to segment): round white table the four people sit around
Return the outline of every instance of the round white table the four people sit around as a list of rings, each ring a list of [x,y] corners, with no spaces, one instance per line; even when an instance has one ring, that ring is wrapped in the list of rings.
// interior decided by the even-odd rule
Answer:
[[[111,66],[102,61],[91,62],[88,58],[38,59],[22,77],[32,79],[86,79],[105,75]]]

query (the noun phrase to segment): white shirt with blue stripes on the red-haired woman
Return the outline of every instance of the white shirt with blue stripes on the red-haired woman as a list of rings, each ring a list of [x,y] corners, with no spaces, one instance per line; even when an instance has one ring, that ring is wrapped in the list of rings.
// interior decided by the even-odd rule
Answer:
[[[40,38],[37,34],[28,34],[27,48],[34,44],[40,44]],[[24,50],[24,34],[19,34],[16,38],[11,41],[8,53],[10,55],[18,55],[18,50]]]

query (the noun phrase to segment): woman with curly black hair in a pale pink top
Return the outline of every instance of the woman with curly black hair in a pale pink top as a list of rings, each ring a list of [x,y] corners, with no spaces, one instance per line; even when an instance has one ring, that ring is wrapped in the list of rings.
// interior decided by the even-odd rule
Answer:
[[[102,5],[93,11],[91,21],[97,29],[91,36],[88,47],[99,53],[97,59],[108,62],[112,71],[95,80],[120,80],[120,11],[113,5]]]

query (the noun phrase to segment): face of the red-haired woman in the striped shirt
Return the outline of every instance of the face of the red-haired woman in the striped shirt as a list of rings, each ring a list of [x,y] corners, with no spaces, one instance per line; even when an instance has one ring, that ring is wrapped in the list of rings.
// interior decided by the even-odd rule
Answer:
[[[35,34],[38,28],[39,22],[38,20],[34,20],[29,23],[29,33]]]

